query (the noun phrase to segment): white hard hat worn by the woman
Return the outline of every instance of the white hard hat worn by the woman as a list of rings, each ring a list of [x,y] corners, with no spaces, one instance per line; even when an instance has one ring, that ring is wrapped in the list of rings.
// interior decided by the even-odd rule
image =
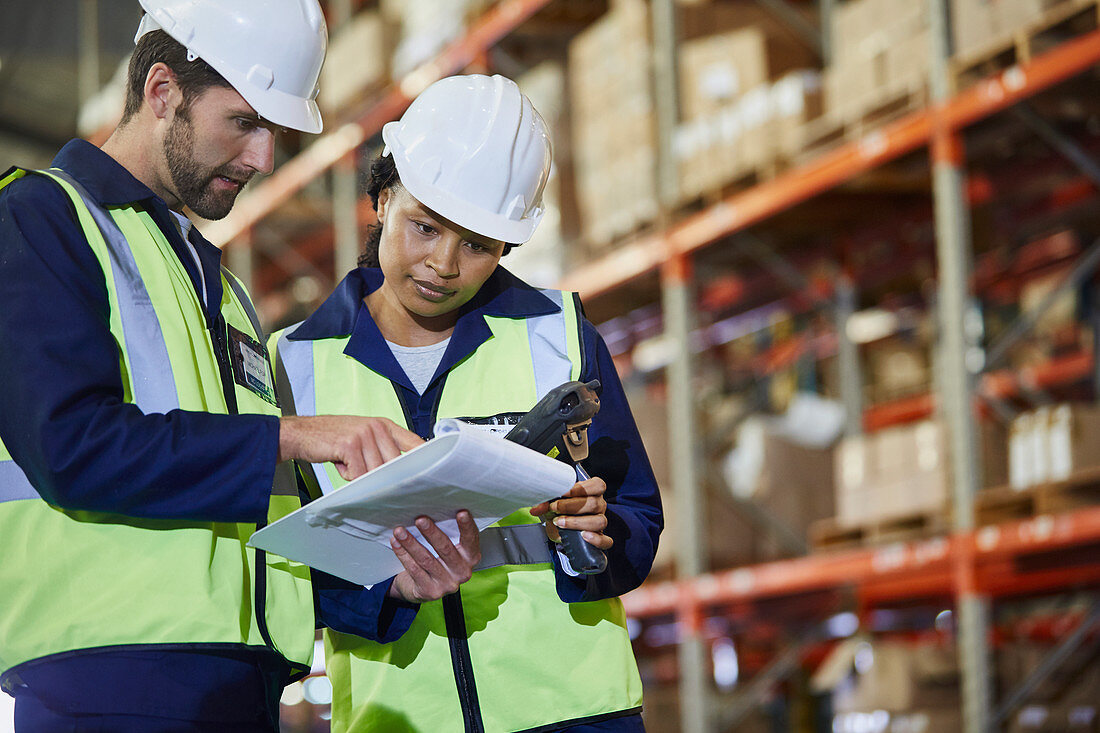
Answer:
[[[510,244],[535,233],[553,153],[546,122],[512,79],[440,79],[382,139],[402,185],[428,208]]]

